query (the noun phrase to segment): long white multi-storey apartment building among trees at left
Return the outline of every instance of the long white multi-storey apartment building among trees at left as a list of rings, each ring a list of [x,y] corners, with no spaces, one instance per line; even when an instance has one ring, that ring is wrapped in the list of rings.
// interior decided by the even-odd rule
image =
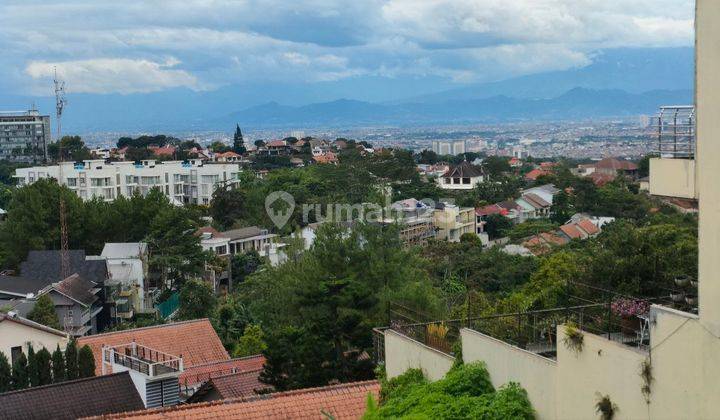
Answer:
[[[55,178],[84,200],[100,197],[112,201],[120,196],[130,197],[136,191],[146,195],[152,188],[159,188],[176,204],[209,204],[215,189],[239,182],[239,174],[240,165],[236,163],[207,164],[199,159],[144,160],[139,164],[98,159],[21,168],[14,177],[20,186]]]

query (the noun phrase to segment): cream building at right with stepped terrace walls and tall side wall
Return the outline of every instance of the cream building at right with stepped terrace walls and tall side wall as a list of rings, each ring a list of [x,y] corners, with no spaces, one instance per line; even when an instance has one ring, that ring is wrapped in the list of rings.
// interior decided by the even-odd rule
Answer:
[[[520,383],[539,419],[591,419],[599,414],[628,419],[720,418],[715,401],[720,391],[719,20],[718,2],[697,0],[693,158],[660,157],[650,165],[651,192],[655,183],[657,195],[699,198],[698,278],[675,282],[689,294],[674,291],[667,298],[661,294],[653,301],[657,303],[632,315],[613,315],[611,301],[584,300],[578,306],[566,303],[551,310],[440,324],[447,331],[444,337],[460,337],[465,363],[484,362],[495,387]],[[597,293],[589,287],[588,293]],[[565,326],[567,319],[578,323]],[[379,354],[388,378],[420,368],[436,380],[451,369],[454,356],[449,343],[438,346],[424,340],[422,334],[431,329],[428,325],[414,324],[414,330],[403,327],[378,330],[382,337],[377,342],[383,345]]]

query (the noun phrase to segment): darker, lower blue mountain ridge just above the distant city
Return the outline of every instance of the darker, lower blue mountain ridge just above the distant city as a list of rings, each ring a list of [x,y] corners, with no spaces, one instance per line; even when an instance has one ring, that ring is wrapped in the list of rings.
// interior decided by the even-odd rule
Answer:
[[[653,114],[664,104],[690,103],[691,90],[623,90],[574,88],[552,99],[493,96],[442,103],[372,104],[341,99],[304,106],[275,102],[250,107],[217,119],[245,126],[341,126],[382,124],[491,123],[512,120],[571,120]]]

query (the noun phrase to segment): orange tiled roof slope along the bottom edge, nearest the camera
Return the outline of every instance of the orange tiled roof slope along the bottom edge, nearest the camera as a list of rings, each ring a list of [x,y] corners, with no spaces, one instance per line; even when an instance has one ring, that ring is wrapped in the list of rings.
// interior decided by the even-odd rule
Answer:
[[[353,382],[322,388],[300,389],[248,398],[187,404],[166,409],[122,413],[104,418],[142,419],[359,419],[367,396],[380,393],[377,381]]]

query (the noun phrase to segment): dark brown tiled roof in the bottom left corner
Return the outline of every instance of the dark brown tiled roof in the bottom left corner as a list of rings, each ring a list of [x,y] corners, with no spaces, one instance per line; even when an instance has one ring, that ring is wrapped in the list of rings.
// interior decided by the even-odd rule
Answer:
[[[144,407],[127,372],[0,394],[0,419],[76,419]]]

